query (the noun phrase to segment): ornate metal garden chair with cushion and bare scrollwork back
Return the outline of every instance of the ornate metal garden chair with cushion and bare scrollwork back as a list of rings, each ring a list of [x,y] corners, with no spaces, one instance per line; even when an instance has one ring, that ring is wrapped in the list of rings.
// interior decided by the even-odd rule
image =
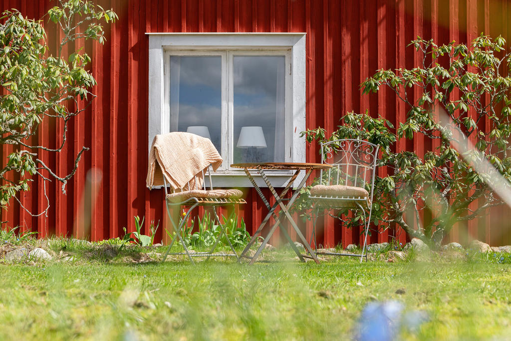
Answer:
[[[320,184],[311,188],[309,198],[314,203],[313,226],[314,247],[316,248],[316,220],[320,209],[355,209],[364,216],[364,246],[362,254],[320,252],[319,255],[355,256],[360,262],[367,261],[367,234],[371,221],[373,190],[375,185],[376,162],[379,146],[355,139],[324,142],[321,146],[321,163],[333,167],[320,173]],[[368,217],[366,216],[368,211]],[[366,219],[367,218],[367,219]],[[364,254],[365,252],[365,254]]]

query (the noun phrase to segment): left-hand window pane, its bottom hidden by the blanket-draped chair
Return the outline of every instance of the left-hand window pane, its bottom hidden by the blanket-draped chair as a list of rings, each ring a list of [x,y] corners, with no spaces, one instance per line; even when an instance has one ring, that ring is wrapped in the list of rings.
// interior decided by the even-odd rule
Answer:
[[[219,152],[221,63],[220,56],[170,57],[170,131],[190,130],[200,135],[208,132]]]

